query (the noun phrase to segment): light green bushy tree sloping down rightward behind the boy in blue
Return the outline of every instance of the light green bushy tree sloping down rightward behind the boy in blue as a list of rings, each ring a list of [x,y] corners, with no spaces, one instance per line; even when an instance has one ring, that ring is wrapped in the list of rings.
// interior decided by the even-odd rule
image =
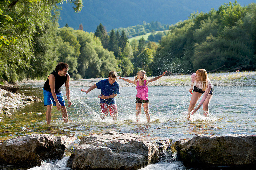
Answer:
[[[77,68],[83,78],[107,77],[109,71],[119,69],[113,52],[104,49],[98,37],[84,31],[74,33],[81,46]]]

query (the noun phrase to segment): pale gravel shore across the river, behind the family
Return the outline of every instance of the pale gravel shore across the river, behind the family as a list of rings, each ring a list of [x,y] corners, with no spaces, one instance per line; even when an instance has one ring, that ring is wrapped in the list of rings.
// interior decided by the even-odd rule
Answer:
[[[228,73],[210,73],[208,74],[212,84],[216,87],[220,86],[256,86],[256,72],[228,72]],[[126,77],[127,79],[134,80],[134,77]],[[151,79],[153,77],[148,77]],[[96,79],[82,79],[76,81],[70,81],[70,86],[73,87],[91,87],[98,81],[106,78]],[[124,80],[116,80],[120,87],[131,87],[134,84],[128,83]],[[168,75],[161,77],[156,81],[148,83],[148,86],[190,86],[191,74],[181,75]]]

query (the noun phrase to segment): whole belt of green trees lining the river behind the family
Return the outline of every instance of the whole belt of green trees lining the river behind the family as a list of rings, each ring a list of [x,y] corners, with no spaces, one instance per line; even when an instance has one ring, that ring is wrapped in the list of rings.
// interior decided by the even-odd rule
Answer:
[[[75,11],[82,0],[69,0]],[[128,42],[126,30],[95,33],[59,28],[62,0],[3,0],[0,6],[0,78],[43,79],[58,62],[69,65],[74,79],[107,77],[110,70],[133,76],[207,71],[255,70],[256,4],[223,4],[208,13],[195,12],[169,27],[156,42]]]

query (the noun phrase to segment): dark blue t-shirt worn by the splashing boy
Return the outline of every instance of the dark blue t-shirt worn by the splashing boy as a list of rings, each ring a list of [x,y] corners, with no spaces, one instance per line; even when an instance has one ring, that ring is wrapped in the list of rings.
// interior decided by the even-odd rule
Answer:
[[[108,79],[104,79],[97,82],[96,86],[101,90],[100,95],[110,96],[113,94],[119,94],[119,85],[116,81],[111,85],[109,84]],[[110,99],[100,99],[100,103],[106,103],[108,105],[116,104],[116,99],[115,97]]]

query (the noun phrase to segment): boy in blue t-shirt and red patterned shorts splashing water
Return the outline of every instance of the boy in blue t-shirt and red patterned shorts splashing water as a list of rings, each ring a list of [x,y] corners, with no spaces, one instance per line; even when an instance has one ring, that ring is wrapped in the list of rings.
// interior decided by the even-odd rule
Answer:
[[[98,88],[101,90],[100,95],[100,107],[101,119],[104,119],[105,116],[108,115],[108,109],[110,112],[110,116],[113,117],[113,120],[117,120],[117,107],[116,107],[116,95],[119,94],[119,85],[116,82],[117,74],[115,71],[110,71],[108,74],[108,79],[101,80],[96,84],[92,85],[90,89],[84,90],[81,89],[84,93],[89,93],[89,91]]]

